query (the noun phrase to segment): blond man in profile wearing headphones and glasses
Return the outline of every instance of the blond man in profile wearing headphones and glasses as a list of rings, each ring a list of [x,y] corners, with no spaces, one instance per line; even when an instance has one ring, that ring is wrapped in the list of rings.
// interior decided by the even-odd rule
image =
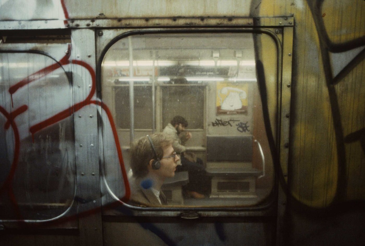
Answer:
[[[135,178],[131,185],[131,204],[167,205],[161,186],[166,178],[174,177],[180,159],[172,142],[166,135],[155,133],[131,144],[131,169]]]

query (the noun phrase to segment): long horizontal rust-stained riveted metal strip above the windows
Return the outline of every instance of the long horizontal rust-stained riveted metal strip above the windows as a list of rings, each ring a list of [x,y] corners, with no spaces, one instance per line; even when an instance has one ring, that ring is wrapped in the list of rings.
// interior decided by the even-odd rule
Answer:
[[[260,24],[258,24],[260,23]],[[39,30],[56,28],[103,28],[103,27],[284,27],[293,26],[293,17],[173,17],[173,18],[113,18],[71,20],[9,20],[0,22],[0,30]]]

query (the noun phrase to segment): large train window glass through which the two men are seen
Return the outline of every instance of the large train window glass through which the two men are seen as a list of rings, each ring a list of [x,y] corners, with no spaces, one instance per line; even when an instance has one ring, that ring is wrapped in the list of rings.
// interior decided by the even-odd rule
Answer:
[[[259,54],[265,54],[262,76],[256,72]],[[276,45],[266,34],[144,34],[115,42],[101,68],[103,103],[114,121],[101,113],[104,203],[112,198],[147,207],[267,202],[274,171],[265,124],[275,134],[276,77]],[[171,139],[172,148],[161,147],[155,133]],[[131,147],[138,139],[147,154]]]

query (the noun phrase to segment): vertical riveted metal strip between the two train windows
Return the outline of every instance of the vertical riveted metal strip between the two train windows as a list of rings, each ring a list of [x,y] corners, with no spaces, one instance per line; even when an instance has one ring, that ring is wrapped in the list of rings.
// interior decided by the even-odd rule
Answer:
[[[102,245],[94,31],[74,30],[71,40],[80,245]]]

